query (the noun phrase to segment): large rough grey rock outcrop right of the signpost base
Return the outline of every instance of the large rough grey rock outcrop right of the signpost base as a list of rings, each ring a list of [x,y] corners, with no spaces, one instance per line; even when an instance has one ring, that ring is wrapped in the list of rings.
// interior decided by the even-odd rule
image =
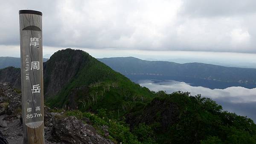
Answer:
[[[96,130],[74,116],[62,118],[54,126],[55,135],[70,144],[113,144],[97,134]]]

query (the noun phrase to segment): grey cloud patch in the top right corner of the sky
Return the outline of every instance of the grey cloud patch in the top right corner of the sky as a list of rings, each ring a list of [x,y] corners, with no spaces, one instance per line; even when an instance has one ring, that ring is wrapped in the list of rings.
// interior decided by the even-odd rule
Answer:
[[[193,17],[223,17],[255,13],[255,0],[183,0],[180,13]]]

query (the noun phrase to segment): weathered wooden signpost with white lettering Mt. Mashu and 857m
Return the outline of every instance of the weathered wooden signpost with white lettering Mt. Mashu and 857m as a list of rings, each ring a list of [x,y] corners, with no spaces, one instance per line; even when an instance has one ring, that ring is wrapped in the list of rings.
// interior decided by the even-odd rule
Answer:
[[[24,144],[44,144],[42,13],[20,10]]]

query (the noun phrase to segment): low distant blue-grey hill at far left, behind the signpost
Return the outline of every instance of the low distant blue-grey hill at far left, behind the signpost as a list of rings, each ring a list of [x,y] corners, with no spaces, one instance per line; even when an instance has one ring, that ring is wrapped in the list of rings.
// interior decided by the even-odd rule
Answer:
[[[47,61],[48,58],[43,58],[43,61]],[[20,58],[15,57],[0,57],[0,69],[13,66],[20,68]]]

